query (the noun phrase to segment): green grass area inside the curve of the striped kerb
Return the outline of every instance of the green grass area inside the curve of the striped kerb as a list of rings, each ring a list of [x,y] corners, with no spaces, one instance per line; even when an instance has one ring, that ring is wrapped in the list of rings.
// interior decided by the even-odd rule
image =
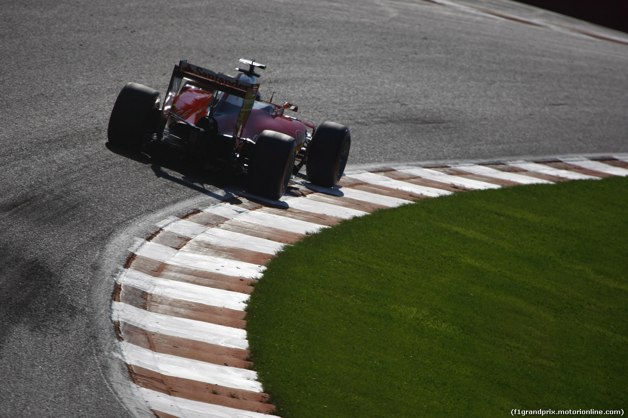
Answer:
[[[457,193],[274,258],[247,309],[284,418],[619,409],[628,179]]]

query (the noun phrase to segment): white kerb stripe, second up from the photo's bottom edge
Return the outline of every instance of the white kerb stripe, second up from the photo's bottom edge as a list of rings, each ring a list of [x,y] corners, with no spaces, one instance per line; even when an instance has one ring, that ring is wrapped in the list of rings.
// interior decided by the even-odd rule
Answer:
[[[257,373],[246,368],[221,366],[192,358],[156,353],[137,345],[121,342],[129,364],[148,368],[163,375],[196,380],[233,389],[264,392],[257,382]]]

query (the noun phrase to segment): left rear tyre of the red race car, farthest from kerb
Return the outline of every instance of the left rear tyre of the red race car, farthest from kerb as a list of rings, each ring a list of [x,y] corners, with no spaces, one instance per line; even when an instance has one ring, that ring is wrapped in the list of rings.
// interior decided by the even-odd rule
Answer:
[[[160,105],[157,90],[127,83],[111,110],[107,127],[109,143],[129,151],[141,151],[144,141],[157,130]]]

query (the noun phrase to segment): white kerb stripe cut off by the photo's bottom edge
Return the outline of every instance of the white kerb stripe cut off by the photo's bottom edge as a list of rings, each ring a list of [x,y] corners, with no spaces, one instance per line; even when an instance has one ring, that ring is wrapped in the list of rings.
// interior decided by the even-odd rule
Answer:
[[[180,418],[279,418],[276,415],[260,414],[259,412],[173,397],[143,387],[139,389],[139,392],[152,409]]]

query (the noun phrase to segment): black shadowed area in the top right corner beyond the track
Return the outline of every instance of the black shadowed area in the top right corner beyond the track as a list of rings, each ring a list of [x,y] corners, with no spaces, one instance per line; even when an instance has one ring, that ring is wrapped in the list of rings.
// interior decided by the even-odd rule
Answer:
[[[519,0],[519,3],[628,33],[628,2],[625,0]]]

